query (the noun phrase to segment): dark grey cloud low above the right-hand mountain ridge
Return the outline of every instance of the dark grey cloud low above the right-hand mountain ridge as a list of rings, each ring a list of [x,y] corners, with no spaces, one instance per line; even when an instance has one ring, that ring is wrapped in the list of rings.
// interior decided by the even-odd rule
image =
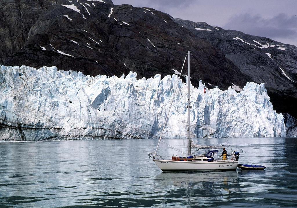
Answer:
[[[260,15],[245,13],[232,16],[223,28],[272,39],[295,39],[297,36],[297,17],[281,13],[272,18],[263,18]]]

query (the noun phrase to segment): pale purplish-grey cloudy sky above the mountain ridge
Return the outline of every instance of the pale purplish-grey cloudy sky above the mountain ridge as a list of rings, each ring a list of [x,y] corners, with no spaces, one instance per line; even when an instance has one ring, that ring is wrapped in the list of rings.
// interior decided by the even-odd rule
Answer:
[[[297,46],[296,0],[112,0]]]

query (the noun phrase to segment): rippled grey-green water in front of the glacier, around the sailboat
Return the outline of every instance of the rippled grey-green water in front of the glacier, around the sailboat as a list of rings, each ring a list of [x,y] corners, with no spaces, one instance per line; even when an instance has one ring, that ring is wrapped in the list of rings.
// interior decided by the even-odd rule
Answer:
[[[157,140],[0,142],[0,207],[297,207],[297,139],[228,140],[266,170],[162,173]]]

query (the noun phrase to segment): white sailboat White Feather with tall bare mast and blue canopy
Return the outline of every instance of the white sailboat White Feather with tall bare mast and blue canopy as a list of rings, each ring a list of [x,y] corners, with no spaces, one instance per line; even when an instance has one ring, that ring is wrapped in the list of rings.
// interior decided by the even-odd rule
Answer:
[[[156,151],[154,153],[148,153],[149,157],[157,164],[157,166],[163,171],[163,172],[185,172],[185,171],[235,171],[238,165],[238,158],[239,153],[234,152],[233,158],[228,159],[227,157],[223,157],[223,159],[219,158],[218,152],[220,148],[227,148],[227,147],[216,147],[216,146],[201,146],[201,145],[195,145],[191,141],[191,119],[190,119],[190,51],[187,51],[186,58],[188,56],[188,157],[180,157],[180,156],[172,156],[171,160],[163,159],[158,153],[158,147],[162,139],[162,135],[165,129],[166,122],[168,120],[168,115],[170,112],[170,108],[172,105],[172,102],[169,107],[169,112],[167,114],[167,117],[165,119],[165,124],[162,129],[161,136],[159,138],[159,142],[156,148]],[[184,59],[184,63],[186,61],[186,58]],[[182,69],[184,67],[184,63],[182,66]],[[182,72],[181,69],[181,72]],[[181,75],[181,73],[180,73]],[[180,78],[180,76],[179,76]],[[177,86],[176,86],[177,87]],[[175,96],[176,90],[173,94],[173,97]],[[173,101],[173,100],[172,100]],[[192,155],[191,153],[191,146],[196,147],[198,149],[209,149],[206,153],[202,155]],[[230,145],[229,145],[230,146]]]

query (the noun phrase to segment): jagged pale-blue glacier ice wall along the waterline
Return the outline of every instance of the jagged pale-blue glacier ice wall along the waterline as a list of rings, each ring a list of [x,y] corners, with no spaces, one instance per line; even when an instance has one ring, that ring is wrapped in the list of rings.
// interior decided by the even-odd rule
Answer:
[[[136,79],[136,73],[91,77],[81,72],[1,66],[0,139],[155,139],[177,93],[164,138],[187,134],[187,85],[170,75]],[[191,86],[192,137],[286,136],[282,114],[272,107],[264,84]]]

